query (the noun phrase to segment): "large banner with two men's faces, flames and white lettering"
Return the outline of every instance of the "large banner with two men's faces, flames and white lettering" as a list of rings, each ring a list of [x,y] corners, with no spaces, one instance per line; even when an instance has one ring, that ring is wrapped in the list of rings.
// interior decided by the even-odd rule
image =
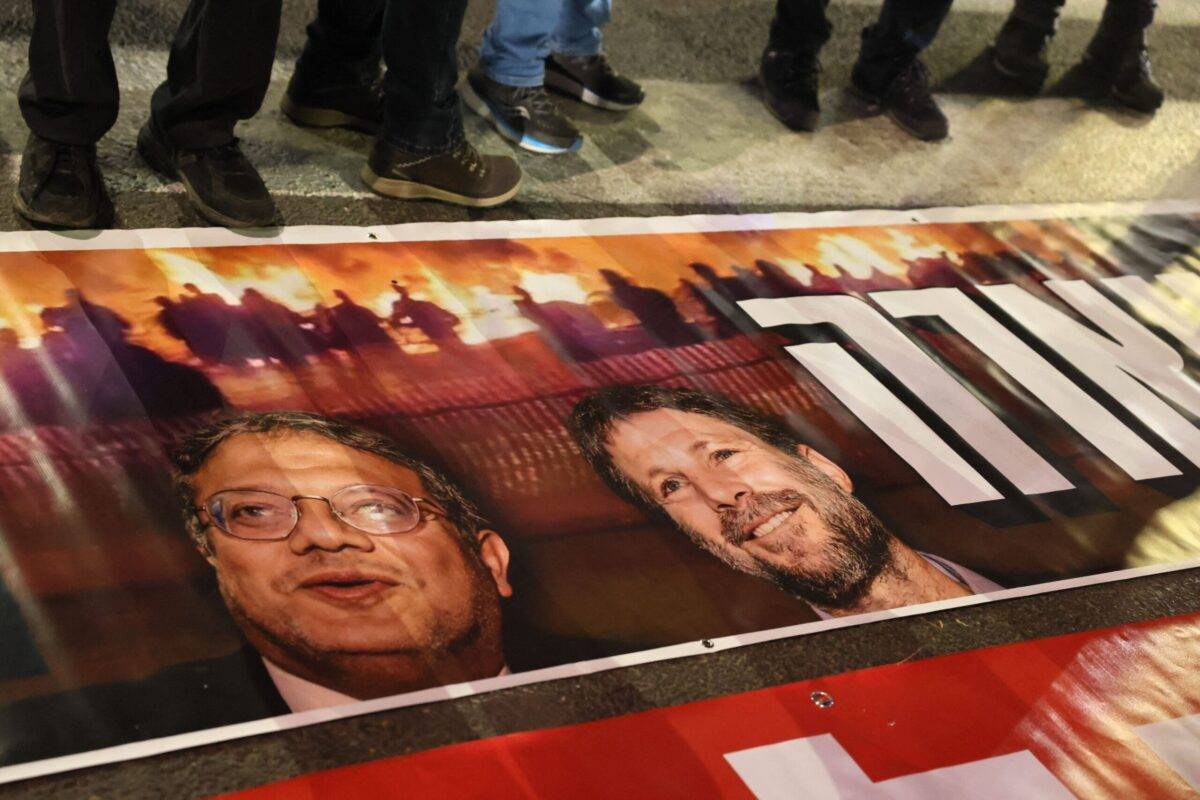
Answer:
[[[1195,566],[1200,205],[0,235],[0,781]]]

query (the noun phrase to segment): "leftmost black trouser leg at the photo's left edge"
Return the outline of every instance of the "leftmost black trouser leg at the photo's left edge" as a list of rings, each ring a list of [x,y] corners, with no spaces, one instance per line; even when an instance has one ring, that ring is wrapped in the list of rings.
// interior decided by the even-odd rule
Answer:
[[[17,92],[25,125],[62,144],[91,145],[116,121],[108,29],[116,0],[34,0],[29,71]]]

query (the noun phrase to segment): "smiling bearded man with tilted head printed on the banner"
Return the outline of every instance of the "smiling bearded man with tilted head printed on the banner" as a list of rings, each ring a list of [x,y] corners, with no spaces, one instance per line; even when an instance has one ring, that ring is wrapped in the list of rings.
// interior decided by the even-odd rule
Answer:
[[[611,386],[580,401],[568,426],[618,494],[823,619],[1000,589],[901,542],[838,464],[726,398]]]

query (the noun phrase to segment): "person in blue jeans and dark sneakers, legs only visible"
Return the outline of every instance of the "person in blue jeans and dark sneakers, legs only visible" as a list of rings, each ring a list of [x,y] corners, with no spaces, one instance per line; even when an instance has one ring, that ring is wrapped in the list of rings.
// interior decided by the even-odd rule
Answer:
[[[526,150],[578,150],[583,137],[546,89],[613,112],[644,97],[601,49],[611,18],[612,0],[499,0],[479,64],[462,84],[463,102]]]

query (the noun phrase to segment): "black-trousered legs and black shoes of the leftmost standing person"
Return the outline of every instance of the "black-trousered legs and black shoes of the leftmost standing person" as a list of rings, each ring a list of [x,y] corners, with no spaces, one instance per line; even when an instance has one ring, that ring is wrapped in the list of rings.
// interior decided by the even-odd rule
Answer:
[[[29,139],[13,205],[35,225],[113,223],[96,143],[116,121],[119,104],[108,43],[115,7],[116,0],[34,0],[29,70],[18,90]],[[138,134],[142,156],[180,181],[216,224],[262,227],[276,217],[234,127],[263,102],[280,13],[281,0],[192,0]]]

